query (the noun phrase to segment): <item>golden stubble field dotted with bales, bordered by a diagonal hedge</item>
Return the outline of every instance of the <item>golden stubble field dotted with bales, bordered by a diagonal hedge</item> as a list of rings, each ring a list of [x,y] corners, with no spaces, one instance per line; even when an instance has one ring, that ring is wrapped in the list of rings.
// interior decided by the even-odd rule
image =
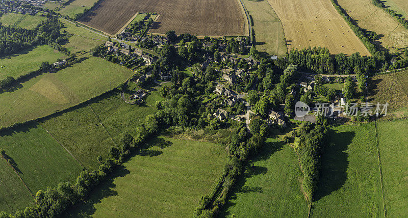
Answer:
[[[370,52],[328,0],[268,0],[284,25],[288,49],[322,46],[330,53]]]

